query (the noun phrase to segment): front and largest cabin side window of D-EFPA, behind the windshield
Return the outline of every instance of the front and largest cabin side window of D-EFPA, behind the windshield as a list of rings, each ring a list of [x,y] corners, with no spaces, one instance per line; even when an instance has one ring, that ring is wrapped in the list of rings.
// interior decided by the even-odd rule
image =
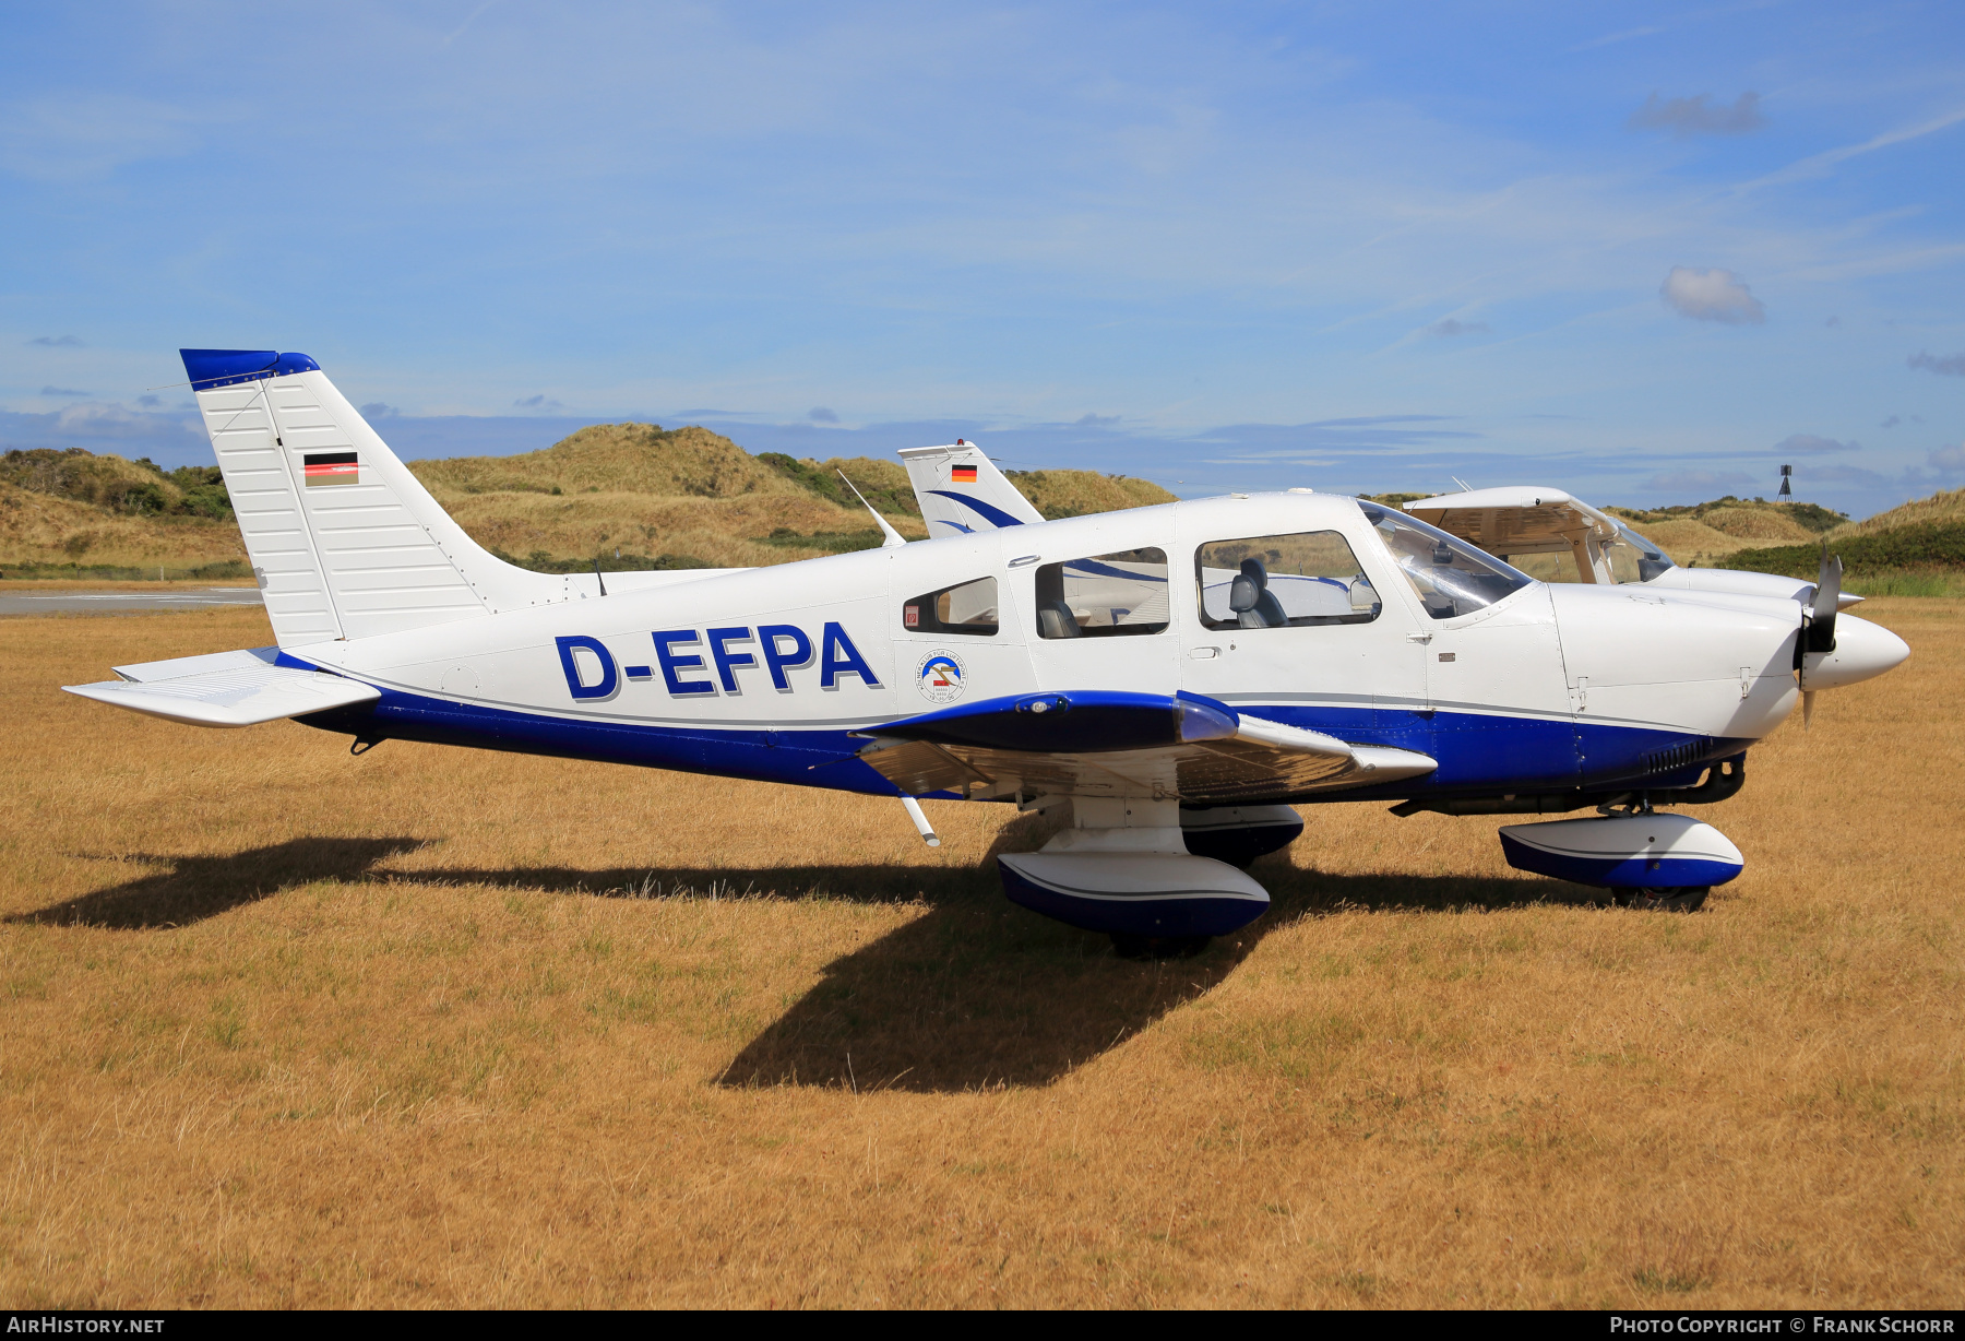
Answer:
[[[1293,629],[1370,623],[1381,610],[1372,578],[1336,531],[1208,541],[1195,551],[1201,623]]]

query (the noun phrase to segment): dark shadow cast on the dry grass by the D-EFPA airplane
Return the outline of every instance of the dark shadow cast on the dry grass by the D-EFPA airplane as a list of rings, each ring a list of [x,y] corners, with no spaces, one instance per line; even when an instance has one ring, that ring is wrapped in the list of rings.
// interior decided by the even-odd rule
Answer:
[[[1032,826],[1006,826],[996,849],[1032,845]],[[841,899],[920,903],[922,916],[825,965],[821,979],[766,1024],[717,1078],[731,1087],[819,1085],[955,1093],[1047,1085],[1124,1044],[1159,1017],[1208,993],[1262,938],[1303,916],[1362,910],[1493,910],[1586,903],[1550,881],[1415,875],[1320,875],[1281,859],[1258,867],[1273,908],[1187,960],[1118,960],[1104,936],[1039,918],[1004,901],[977,867],[572,869],[507,867],[377,871],[415,838],[301,838],[230,857],[151,857],[145,875],[18,914],[57,926],[169,928],[218,916],[312,881],[501,885],[599,899]]]

